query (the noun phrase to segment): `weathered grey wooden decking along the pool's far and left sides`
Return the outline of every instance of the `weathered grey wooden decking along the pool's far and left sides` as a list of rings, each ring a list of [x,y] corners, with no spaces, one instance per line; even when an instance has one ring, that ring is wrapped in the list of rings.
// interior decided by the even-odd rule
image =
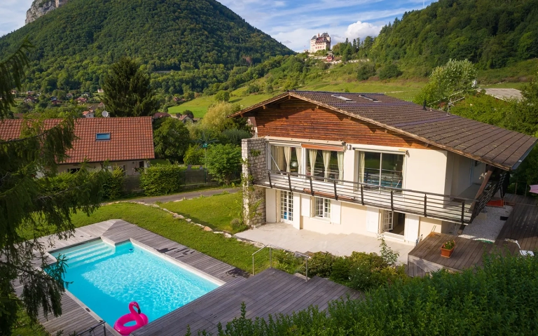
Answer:
[[[54,246],[48,248],[47,251],[54,251],[67,246],[83,244],[92,239],[102,237],[102,239],[113,242],[114,244],[134,239],[150,248],[156,249],[160,253],[164,253],[171,258],[183,262],[184,264],[199,269],[216,279],[228,283],[237,279],[246,279],[249,274],[242,269],[233,267],[221,262],[215,258],[209,257],[184,245],[178,244],[175,241],[156,235],[153,232],[144,230],[121,220],[111,220],[102,223],[96,223],[78,228],[74,235],[69,239],[58,240],[54,236],[43,237],[39,239],[41,242],[53,242]],[[47,245],[48,246],[48,245]],[[50,259],[52,261],[52,259]],[[22,286],[15,286],[18,295],[22,292]],[[81,332],[96,325],[99,322],[99,316],[94,314],[82,302],[78,301],[70,293],[62,295],[62,312],[63,314],[57,318],[49,315],[48,318],[39,314],[39,322],[45,327],[47,332],[55,335],[56,332],[63,330],[63,335],[71,335],[74,332]],[[119,335],[110,325],[107,325],[107,335]],[[95,330],[96,336],[103,335],[103,329]]]

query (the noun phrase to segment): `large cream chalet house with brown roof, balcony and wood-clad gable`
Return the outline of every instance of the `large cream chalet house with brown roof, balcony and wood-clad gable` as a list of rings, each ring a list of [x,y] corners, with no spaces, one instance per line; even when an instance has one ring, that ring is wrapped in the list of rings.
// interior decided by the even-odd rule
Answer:
[[[249,225],[408,243],[484,216],[538,141],[372,93],[284,92],[230,117],[256,125],[242,142]]]

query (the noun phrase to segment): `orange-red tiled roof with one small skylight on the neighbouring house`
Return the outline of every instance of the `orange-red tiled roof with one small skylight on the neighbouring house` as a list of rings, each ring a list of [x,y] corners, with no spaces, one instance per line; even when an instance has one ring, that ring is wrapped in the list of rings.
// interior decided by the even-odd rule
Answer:
[[[52,128],[62,119],[47,119],[45,127]],[[27,120],[0,121],[0,139],[18,139],[22,123]],[[146,160],[155,158],[151,117],[78,118],[75,120],[73,148],[67,151],[65,163]],[[110,133],[110,140],[97,141],[95,134]]]

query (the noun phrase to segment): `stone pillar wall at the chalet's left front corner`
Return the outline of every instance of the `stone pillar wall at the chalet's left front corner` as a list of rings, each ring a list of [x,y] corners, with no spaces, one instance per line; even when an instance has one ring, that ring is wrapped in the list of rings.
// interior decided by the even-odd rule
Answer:
[[[261,178],[267,172],[265,139],[243,139],[242,158],[246,161],[242,172],[244,176],[242,186],[244,223],[250,227],[256,227],[266,222],[265,188],[252,184],[252,179]]]

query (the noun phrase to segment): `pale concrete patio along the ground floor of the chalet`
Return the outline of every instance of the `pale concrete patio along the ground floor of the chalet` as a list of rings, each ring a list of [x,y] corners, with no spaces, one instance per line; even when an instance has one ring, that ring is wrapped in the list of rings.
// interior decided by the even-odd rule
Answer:
[[[353,251],[380,253],[380,241],[375,237],[357,234],[324,235],[307,230],[297,230],[285,223],[265,224],[260,228],[237,233],[235,236],[301,253],[318,251],[334,255],[350,255]],[[390,239],[385,239],[385,241],[392,250],[400,253],[399,262],[407,262],[407,255],[414,247],[412,244],[404,244]]]

